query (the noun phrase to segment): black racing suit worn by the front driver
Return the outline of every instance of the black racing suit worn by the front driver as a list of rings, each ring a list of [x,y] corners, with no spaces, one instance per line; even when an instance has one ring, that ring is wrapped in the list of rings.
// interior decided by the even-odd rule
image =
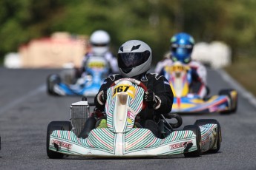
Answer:
[[[99,89],[99,92],[102,90],[107,91],[107,89],[113,84],[114,81],[123,78],[122,75],[110,75],[105,79],[104,83]],[[137,80],[141,81],[147,89],[151,89],[154,92],[154,95],[157,95],[160,98],[160,107],[158,109],[149,109],[145,108],[140,112],[140,120],[143,123],[145,120],[153,120],[154,115],[168,114],[171,112],[172,103],[174,101],[174,95],[171,91],[171,86],[162,75],[146,73],[141,75]],[[94,103],[97,109],[100,109],[102,112],[105,109],[105,105],[100,105],[97,101],[97,95],[94,98]]]

